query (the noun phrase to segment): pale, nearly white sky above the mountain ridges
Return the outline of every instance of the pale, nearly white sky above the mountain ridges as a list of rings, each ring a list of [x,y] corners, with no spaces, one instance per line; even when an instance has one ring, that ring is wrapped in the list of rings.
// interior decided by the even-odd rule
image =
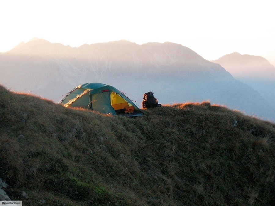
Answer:
[[[271,0],[1,0],[0,52],[34,37],[71,47],[174,42],[206,60],[239,52],[275,65]]]

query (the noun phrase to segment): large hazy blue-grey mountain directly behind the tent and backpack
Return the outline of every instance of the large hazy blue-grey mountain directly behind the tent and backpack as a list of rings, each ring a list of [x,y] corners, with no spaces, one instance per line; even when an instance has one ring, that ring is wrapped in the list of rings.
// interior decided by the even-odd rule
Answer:
[[[0,53],[0,83],[13,91],[55,100],[87,82],[112,85],[137,105],[152,91],[162,104],[209,100],[275,121],[273,107],[259,92],[219,64],[171,42],[121,40],[71,48],[33,39]]]

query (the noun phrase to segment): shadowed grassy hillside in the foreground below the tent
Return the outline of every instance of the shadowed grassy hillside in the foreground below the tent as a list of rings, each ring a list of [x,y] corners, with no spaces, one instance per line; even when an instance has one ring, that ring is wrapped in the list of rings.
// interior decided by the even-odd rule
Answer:
[[[24,205],[275,201],[275,125],[225,107],[187,103],[113,117],[0,86],[0,124],[0,178]]]

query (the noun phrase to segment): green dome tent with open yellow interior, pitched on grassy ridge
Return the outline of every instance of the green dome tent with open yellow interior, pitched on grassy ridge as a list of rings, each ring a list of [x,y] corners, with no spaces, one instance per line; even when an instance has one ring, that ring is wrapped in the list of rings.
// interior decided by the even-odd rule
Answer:
[[[140,116],[140,110],[127,96],[116,88],[101,83],[86,83],[71,90],[61,101],[64,107],[89,108],[104,114]],[[125,113],[126,107],[134,112]]]

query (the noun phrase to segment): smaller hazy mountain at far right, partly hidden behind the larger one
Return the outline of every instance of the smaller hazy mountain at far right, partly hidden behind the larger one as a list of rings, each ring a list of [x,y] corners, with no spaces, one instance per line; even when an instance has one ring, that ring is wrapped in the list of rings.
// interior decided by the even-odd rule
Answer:
[[[275,67],[268,60],[261,56],[234,52],[212,62],[220,64],[235,79],[251,86],[271,105],[275,105]]]

